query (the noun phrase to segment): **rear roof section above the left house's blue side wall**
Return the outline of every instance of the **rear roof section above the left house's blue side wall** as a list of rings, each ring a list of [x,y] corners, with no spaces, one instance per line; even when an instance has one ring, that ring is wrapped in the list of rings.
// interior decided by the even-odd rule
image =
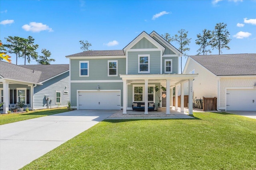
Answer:
[[[49,64],[49,65],[20,65],[22,67],[41,71],[39,82],[47,80],[53,76],[61,74],[69,70],[69,64]]]

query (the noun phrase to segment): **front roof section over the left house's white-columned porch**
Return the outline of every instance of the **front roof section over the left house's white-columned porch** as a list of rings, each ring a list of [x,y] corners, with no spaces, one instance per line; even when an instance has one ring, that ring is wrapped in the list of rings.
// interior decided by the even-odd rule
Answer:
[[[0,75],[3,78],[22,82],[38,83],[42,72],[0,61]]]

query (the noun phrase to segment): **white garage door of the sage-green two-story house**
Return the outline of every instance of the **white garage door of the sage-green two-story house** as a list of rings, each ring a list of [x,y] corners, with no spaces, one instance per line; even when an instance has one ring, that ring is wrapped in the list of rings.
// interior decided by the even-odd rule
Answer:
[[[78,92],[78,109],[120,110],[120,91]]]

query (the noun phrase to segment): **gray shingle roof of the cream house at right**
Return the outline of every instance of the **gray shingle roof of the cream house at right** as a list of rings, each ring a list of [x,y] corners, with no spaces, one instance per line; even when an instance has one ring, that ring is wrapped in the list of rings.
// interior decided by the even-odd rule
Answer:
[[[256,75],[256,54],[193,55],[216,76]]]

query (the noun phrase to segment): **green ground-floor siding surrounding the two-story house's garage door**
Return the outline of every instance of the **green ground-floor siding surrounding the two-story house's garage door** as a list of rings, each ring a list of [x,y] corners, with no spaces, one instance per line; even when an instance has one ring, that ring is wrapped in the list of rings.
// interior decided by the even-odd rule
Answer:
[[[122,82],[87,82],[87,83],[71,83],[71,106],[77,106],[77,90],[97,90],[96,87],[100,86],[100,90],[121,90],[121,107],[123,106],[123,83]],[[104,96],[102,96],[104,98]],[[111,102],[111,101],[109,101]]]

